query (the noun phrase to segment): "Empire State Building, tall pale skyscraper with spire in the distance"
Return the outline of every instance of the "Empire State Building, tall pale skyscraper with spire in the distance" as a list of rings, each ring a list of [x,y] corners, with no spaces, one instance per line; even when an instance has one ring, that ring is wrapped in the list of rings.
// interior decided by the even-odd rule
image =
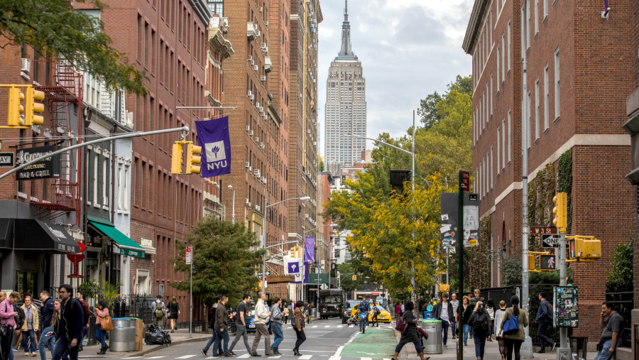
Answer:
[[[337,176],[340,167],[358,163],[366,150],[365,139],[347,135],[366,137],[366,80],[361,62],[351,49],[348,0],[344,5],[342,48],[329,68],[326,99],[324,163],[331,175]]]

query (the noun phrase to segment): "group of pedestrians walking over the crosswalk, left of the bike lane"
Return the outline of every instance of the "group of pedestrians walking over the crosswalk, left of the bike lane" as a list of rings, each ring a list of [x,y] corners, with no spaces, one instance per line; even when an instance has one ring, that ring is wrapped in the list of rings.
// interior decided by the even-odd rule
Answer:
[[[235,345],[239,342],[239,339],[244,339],[244,347],[251,356],[262,356],[258,354],[257,348],[264,338],[264,355],[265,356],[280,356],[279,346],[284,339],[283,324],[288,323],[288,317],[290,309],[288,306],[282,306],[282,300],[278,297],[271,299],[271,306],[266,304],[266,293],[263,291],[258,292],[258,300],[255,304],[255,338],[253,339],[253,345],[249,347],[249,334],[246,328],[246,322],[249,320],[249,303],[251,302],[251,295],[244,294],[242,300],[237,305],[235,325],[237,328],[235,338],[231,342],[229,347],[229,312],[226,310],[226,302],[228,298],[221,295],[217,298],[214,305],[213,315],[213,336],[207,343],[207,345],[201,350],[203,356],[208,356],[209,348],[213,347],[212,356],[226,356],[231,357],[236,354],[233,352]],[[273,344],[271,344],[271,334],[268,332],[267,322],[271,321],[271,331],[273,332]],[[297,301],[295,303],[295,310],[293,310],[293,317],[291,317],[291,325],[295,330],[297,340],[295,347],[293,348],[293,354],[300,354],[300,345],[305,342],[306,335],[304,333],[304,327],[306,324],[306,316],[304,310],[304,303]],[[209,320],[209,323],[211,320]]]

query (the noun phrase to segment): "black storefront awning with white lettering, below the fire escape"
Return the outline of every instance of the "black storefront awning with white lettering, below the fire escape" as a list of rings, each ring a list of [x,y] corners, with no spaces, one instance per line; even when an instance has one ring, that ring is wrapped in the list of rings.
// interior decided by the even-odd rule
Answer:
[[[67,230],[56,224],[36,219],[13,219],[16,236],[14,250],[44,250],[54,253],[77,253],[77,242]]]

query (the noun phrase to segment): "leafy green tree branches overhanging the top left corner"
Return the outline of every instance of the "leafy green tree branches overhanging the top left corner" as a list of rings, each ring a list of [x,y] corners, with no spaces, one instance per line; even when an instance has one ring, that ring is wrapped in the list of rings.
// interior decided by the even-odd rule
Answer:
[[[76,0],[85,3],[87,0]],[[104,23],[84,11],[75,11],[69,0],[0,1],[0,36],[7,45],[31,45],[40,55],[64,59],[87,71],[109,89],[123,87],[143,94],[143,70],[129,65],[124,54],[111,48]],[[99,0],[90,0],[93,9],[104,9]],[[99,29],[99,31],[94,31]]]

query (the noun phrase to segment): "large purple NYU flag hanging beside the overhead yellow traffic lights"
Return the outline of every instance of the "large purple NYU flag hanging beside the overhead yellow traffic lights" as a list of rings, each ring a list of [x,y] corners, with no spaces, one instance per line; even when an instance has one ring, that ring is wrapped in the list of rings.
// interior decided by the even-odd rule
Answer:
[[[197,143],[202,146],[202,178],[231,173],[229,116],[195,121]]]

